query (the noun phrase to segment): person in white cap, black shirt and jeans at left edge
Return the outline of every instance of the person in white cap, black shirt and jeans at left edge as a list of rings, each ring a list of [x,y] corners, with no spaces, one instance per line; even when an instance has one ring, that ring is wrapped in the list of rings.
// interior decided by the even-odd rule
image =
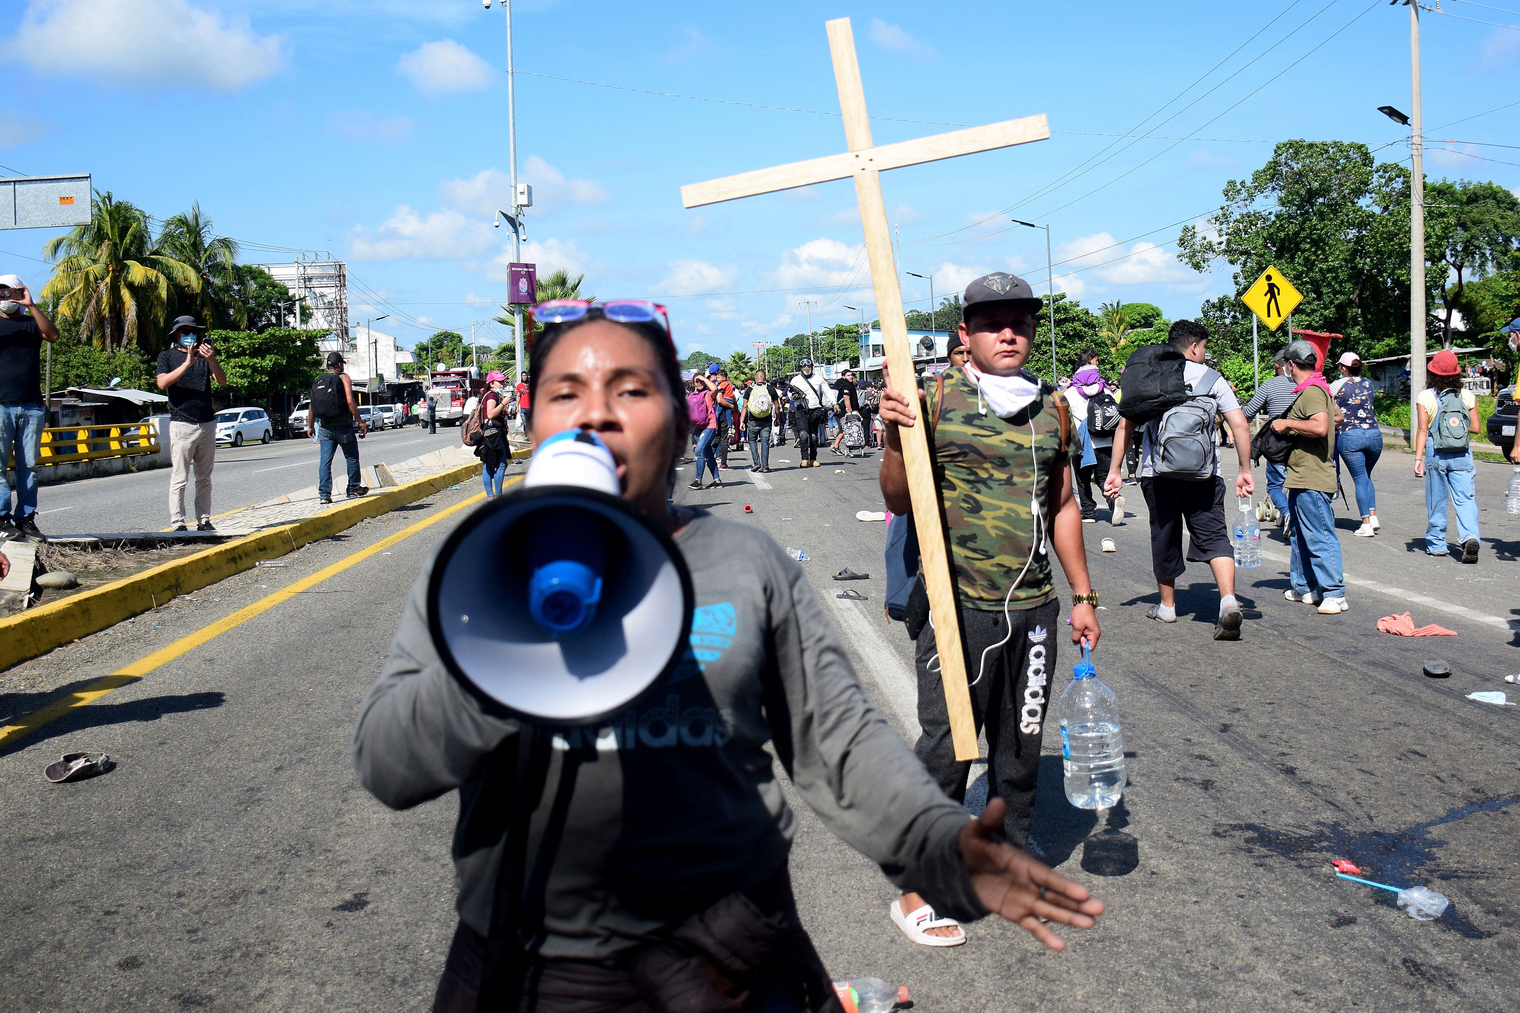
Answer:
[[[0,541],[43,541],[36,529],[36,462],[43,453],[40,351],[56,342],[58,328],[15,275],[0,275]],[[5,462],[15,456],[15,507]]]

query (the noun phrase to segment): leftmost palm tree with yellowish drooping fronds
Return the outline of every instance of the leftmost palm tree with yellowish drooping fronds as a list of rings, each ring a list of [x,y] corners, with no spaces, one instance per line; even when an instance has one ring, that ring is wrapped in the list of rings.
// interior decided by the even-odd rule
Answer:
[[[43,257],[58,260],[43,296],[58,301],[79,336],[112,351],[152,346],[169,317],[172,287],[199,292],[201,278],[161,252],[141,208],[96,191],[88,225],[47,240]]]

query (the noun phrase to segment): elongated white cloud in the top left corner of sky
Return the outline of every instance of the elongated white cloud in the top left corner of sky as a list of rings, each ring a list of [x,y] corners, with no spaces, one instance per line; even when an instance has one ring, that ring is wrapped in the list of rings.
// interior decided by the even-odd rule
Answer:
[[[0,59],[128,88],[239,91],[278,73],[287,49],[248,15],[185,0],[32,0]]]

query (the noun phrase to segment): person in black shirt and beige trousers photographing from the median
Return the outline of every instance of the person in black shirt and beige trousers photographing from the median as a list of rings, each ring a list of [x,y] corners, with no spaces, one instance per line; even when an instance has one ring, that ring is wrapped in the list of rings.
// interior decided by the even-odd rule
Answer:
[[[195,471],[195,515],[198,532],[211,527],[211,469],[216,468],[216,406],[211,381],[226,384],[226,374],[216,361],[216,349],[205,340],[205,328],[193,316],[175,317],[169,325],[169,348],[158,352],[158,389],[169,395],[169,524],[176,532],[185,524],[185,486]],[[163,436],[160,436],[163,439]]]

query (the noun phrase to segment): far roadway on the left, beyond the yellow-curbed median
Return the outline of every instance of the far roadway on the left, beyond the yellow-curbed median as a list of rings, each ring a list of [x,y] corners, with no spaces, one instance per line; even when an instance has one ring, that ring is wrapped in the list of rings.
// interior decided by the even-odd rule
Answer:
[[[406,425],[369,433],[359,442],[359,463],[400,463],[432,450],[459,443],[459,428]],[[211,471],[211,513],[226,513],[316,484],[316,443],[307,439],[219,447]],[[333,484],[342,495],[344,459],[333,465]],[[185,509],[195,509],[195,486]],[[38,491],[38,525],[47,535],[157,532],[169,525],[169,469],[85,478]]]

